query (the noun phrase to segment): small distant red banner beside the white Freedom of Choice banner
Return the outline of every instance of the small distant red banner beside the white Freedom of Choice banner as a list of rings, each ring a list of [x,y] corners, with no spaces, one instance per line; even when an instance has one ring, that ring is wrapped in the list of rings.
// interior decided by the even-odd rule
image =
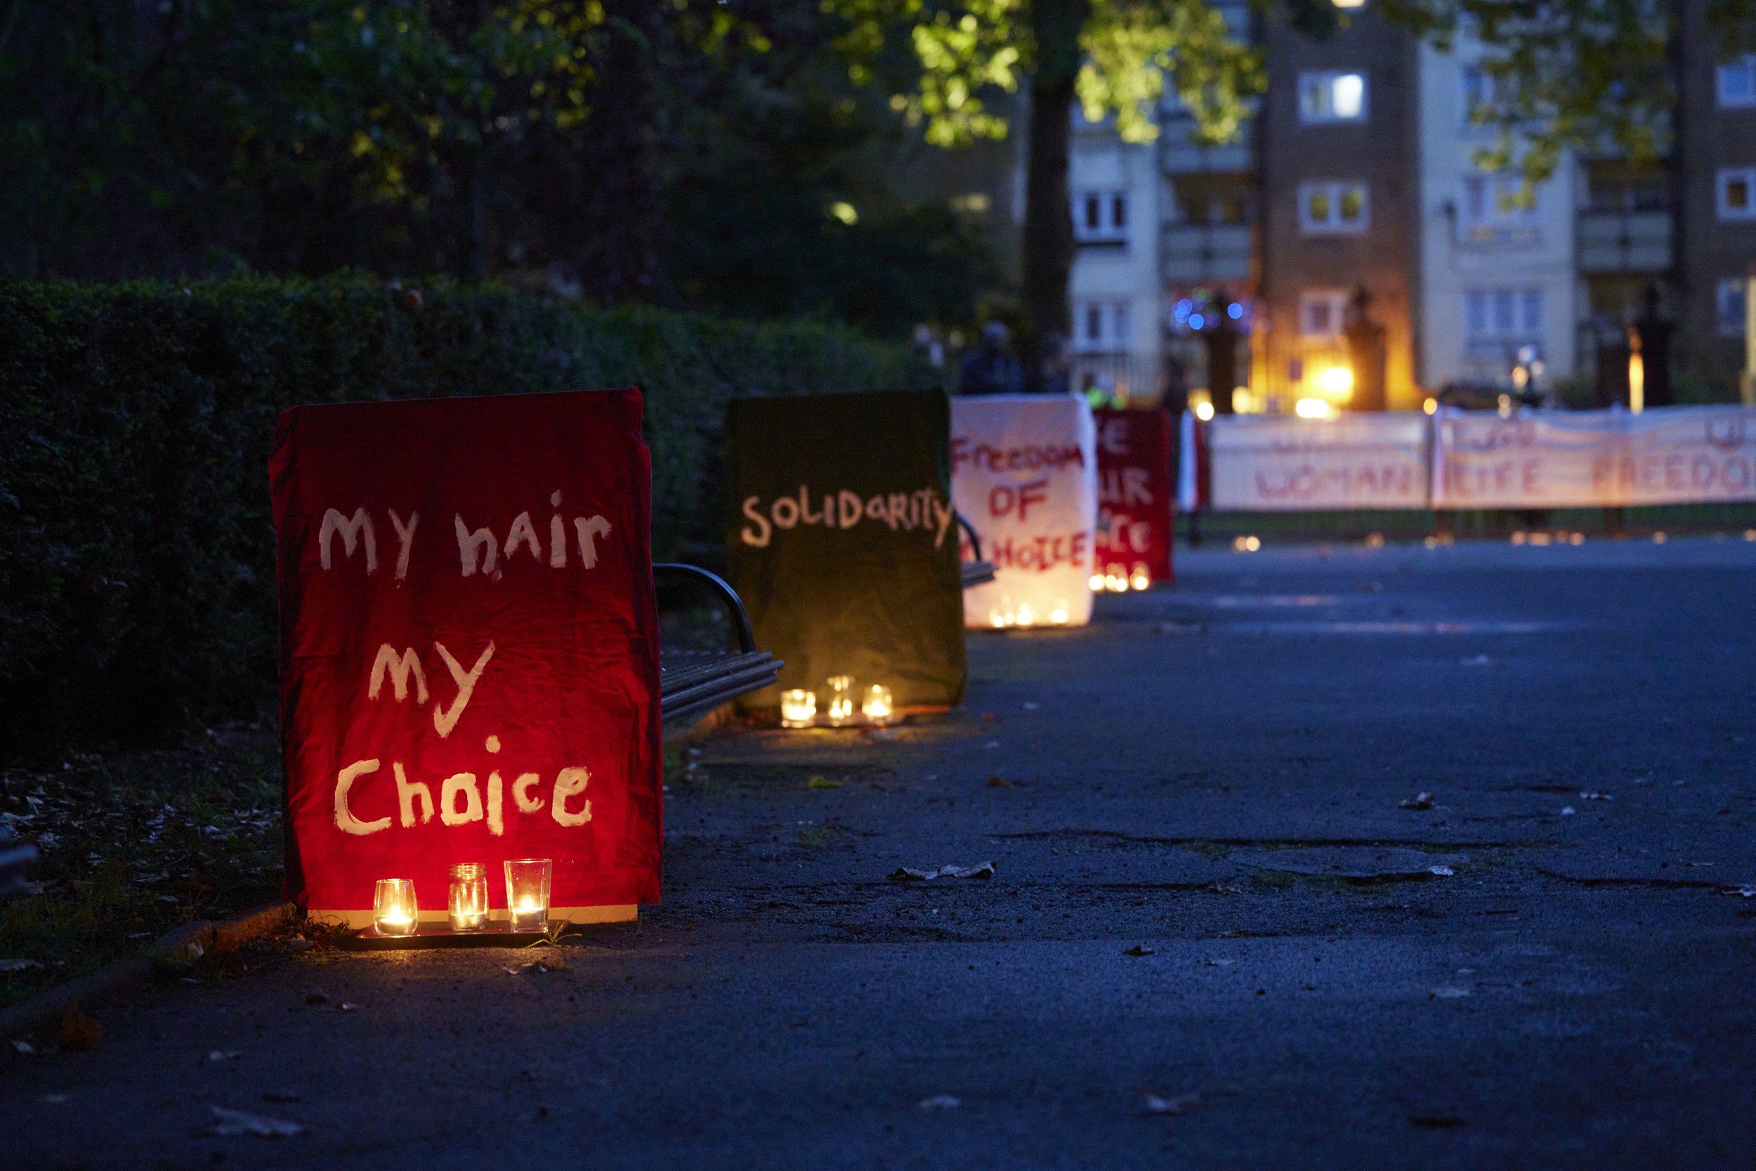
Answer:
[[[1092,413],[1098,420],[1098,558],[1092,572],[1171,581],[1171,418],[1164,411]]]

